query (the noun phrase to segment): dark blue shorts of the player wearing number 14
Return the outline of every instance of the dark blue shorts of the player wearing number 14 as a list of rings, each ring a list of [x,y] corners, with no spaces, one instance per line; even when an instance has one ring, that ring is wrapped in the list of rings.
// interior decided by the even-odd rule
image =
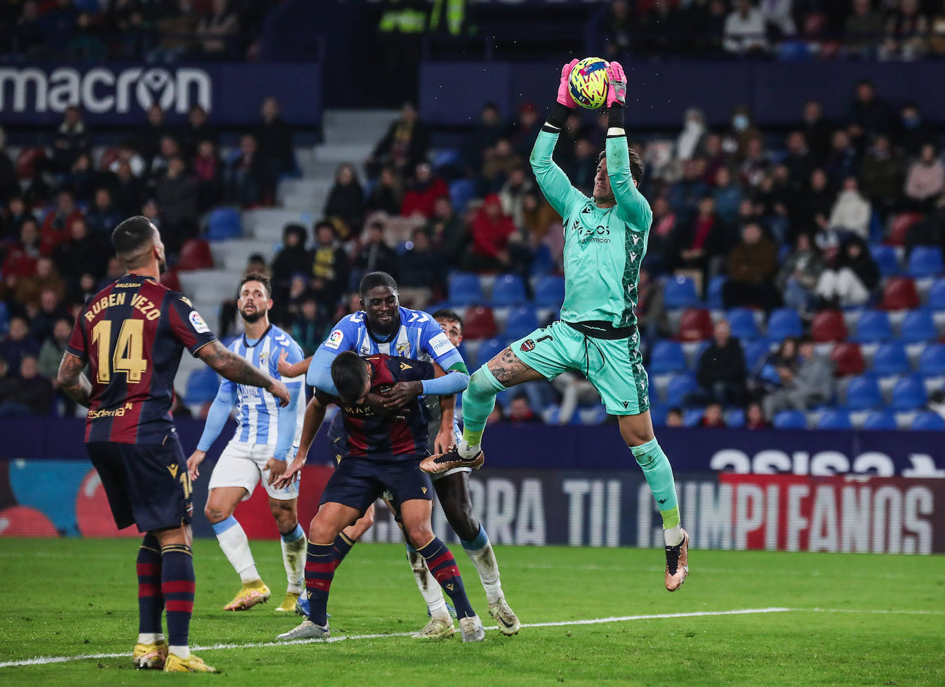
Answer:
[[[159,445],[91,442],[85,446],[119,529],[137,525],[139,532],[148,532],[190,525],[194,505],[187,461],[177,437],[168,435]]]

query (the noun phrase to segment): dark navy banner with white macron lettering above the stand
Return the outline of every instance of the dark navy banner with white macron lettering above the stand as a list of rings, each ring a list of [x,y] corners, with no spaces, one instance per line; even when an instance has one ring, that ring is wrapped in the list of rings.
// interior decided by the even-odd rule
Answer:
[[[0,66],[0,124],[59,124],[70,105],[96,125],[138,125],[157,103],[171,120],[199,105],[217,126],[255,124],[263,100],[275,96],[283,119],[321,121],[318,64],[150,64]]]

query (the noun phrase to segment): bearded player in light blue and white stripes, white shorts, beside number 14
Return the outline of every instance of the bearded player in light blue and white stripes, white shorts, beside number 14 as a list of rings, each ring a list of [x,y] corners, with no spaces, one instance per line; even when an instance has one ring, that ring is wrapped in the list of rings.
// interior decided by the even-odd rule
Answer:
[[[302,359],[301,348],[279,327],[269,324],[272,308],[271,286],[267,276],[249,273],[239,287],[236,307],[243,317],[245,333],[230,348],[233,353],[248,360],[266,374],[280,378],[277,364],[283,355],[286,360]],[[299,526],[296,502],[299,484],[277,489],[272,483],[285,471],[289,449],[299,445],[305,404],[302,377],[283,378],[291,399],[285,408],[277,408],[267,394],[254,387],[236,385],[228,379],[220,382],[213,405],[207,413],[207,423],[197,444],[197,450],[187,460],[191,479],[198,478],[199,464],[207,450],[219,436],[233,405],[236,404],[236,433],[216,461],[210,476],[210,495],[204,513],[214,528],[216,540],[243,583],[224,611],[247,611],[269,598],[269,588],[260,578],[256,563],[249,550],[246,532],[233,517],[240,501],[252,495],[262,479],[269,497],[269,509],[282,536],[283,564],[288,588],[283,603],[276,611],[294,611],[303,587],[305,559],[305,532]]]

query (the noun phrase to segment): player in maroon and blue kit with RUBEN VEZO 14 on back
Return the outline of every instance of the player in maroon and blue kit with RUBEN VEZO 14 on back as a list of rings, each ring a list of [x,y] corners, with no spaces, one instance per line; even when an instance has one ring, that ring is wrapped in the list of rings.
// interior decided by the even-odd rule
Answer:
[[[127,273],[79,314],[57,379],[86,406],[86,449],[119,529],[145,532],[138,549],[138,668],[204,673],[213,668],[187,644],[194,610],[191,484],[171,418],[174,377],[184,348],[219,375],[289,401],[278,379],[216,340],[181,293],[159,282],[161,234],[146,217],[115,227],[112,245]],[[90,366],[92,381],[82,374]],[[162,633],[167,616],[167,639]]]

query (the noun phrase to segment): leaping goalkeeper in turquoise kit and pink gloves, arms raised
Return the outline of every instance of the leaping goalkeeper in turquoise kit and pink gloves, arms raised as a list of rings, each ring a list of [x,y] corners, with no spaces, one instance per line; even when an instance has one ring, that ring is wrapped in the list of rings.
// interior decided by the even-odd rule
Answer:
[[[561,320],[512,343],[472,375],[463,394],[463,436],[447,453],[427,457],[421,469],[439,473],[479,467],[480,444],[495,395],[534,379],[577,370],[596,387],[607,411],[644,471],[662,515],[666,544],[666,589],[675,592],[689,572],[689,536],[679,525],[673,469],[653,434],[648,380],[640,355],[637,305],[640,263],[646,253],[653,212],[637,190],[644,173],[627,146],[624,109],[627,76],[610,62],[607,147],[594,177],[593,197],[578,191],[551,159],[561,127],[576,107],[568,79],[577,60],[564,65],[558,102],[541,127],[531,154],[532,170],[564,225],[564,305]]]

